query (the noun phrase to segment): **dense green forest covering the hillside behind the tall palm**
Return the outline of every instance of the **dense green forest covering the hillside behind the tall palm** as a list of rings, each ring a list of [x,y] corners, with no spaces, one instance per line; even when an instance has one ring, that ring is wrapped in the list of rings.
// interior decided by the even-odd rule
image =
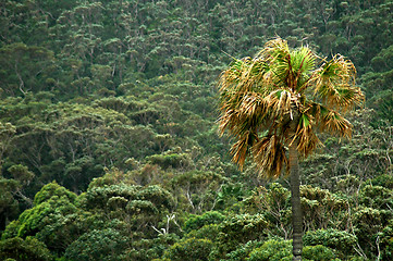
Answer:
[[[304,260],[392,260],[392,33],[391,0],[1,1],[0,258],[291,260],[287,178],[216,123],[220,73],[279,35],[366,94],[302,162]]]

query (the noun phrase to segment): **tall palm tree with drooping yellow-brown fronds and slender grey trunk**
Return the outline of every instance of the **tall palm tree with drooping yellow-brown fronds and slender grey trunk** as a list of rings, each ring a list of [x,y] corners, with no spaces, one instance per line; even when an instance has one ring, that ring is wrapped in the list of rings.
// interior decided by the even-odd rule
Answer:
[[[318,130],[351,137],[343,114],[364,101],[355,75],[341,54],[327,60],[275,38],[220,76],[220,130],[235,139],[233,161],[242,167],[250,156],[267,177],[291,175],[293,260],[302,260],[303,249],[298,159],[322,145]]]

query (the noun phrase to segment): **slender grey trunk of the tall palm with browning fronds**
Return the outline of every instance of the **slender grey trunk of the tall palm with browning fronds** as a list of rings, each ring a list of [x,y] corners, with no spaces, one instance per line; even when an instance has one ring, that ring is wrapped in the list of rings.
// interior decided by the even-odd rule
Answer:
[[[293,227],[293,260],[302,260],[303,250],[303,214],[300,204],[300,178],[298,154],[296,142],[290,146],[290,167],[291,167],[291,203],[292,203],[292,227]]]

